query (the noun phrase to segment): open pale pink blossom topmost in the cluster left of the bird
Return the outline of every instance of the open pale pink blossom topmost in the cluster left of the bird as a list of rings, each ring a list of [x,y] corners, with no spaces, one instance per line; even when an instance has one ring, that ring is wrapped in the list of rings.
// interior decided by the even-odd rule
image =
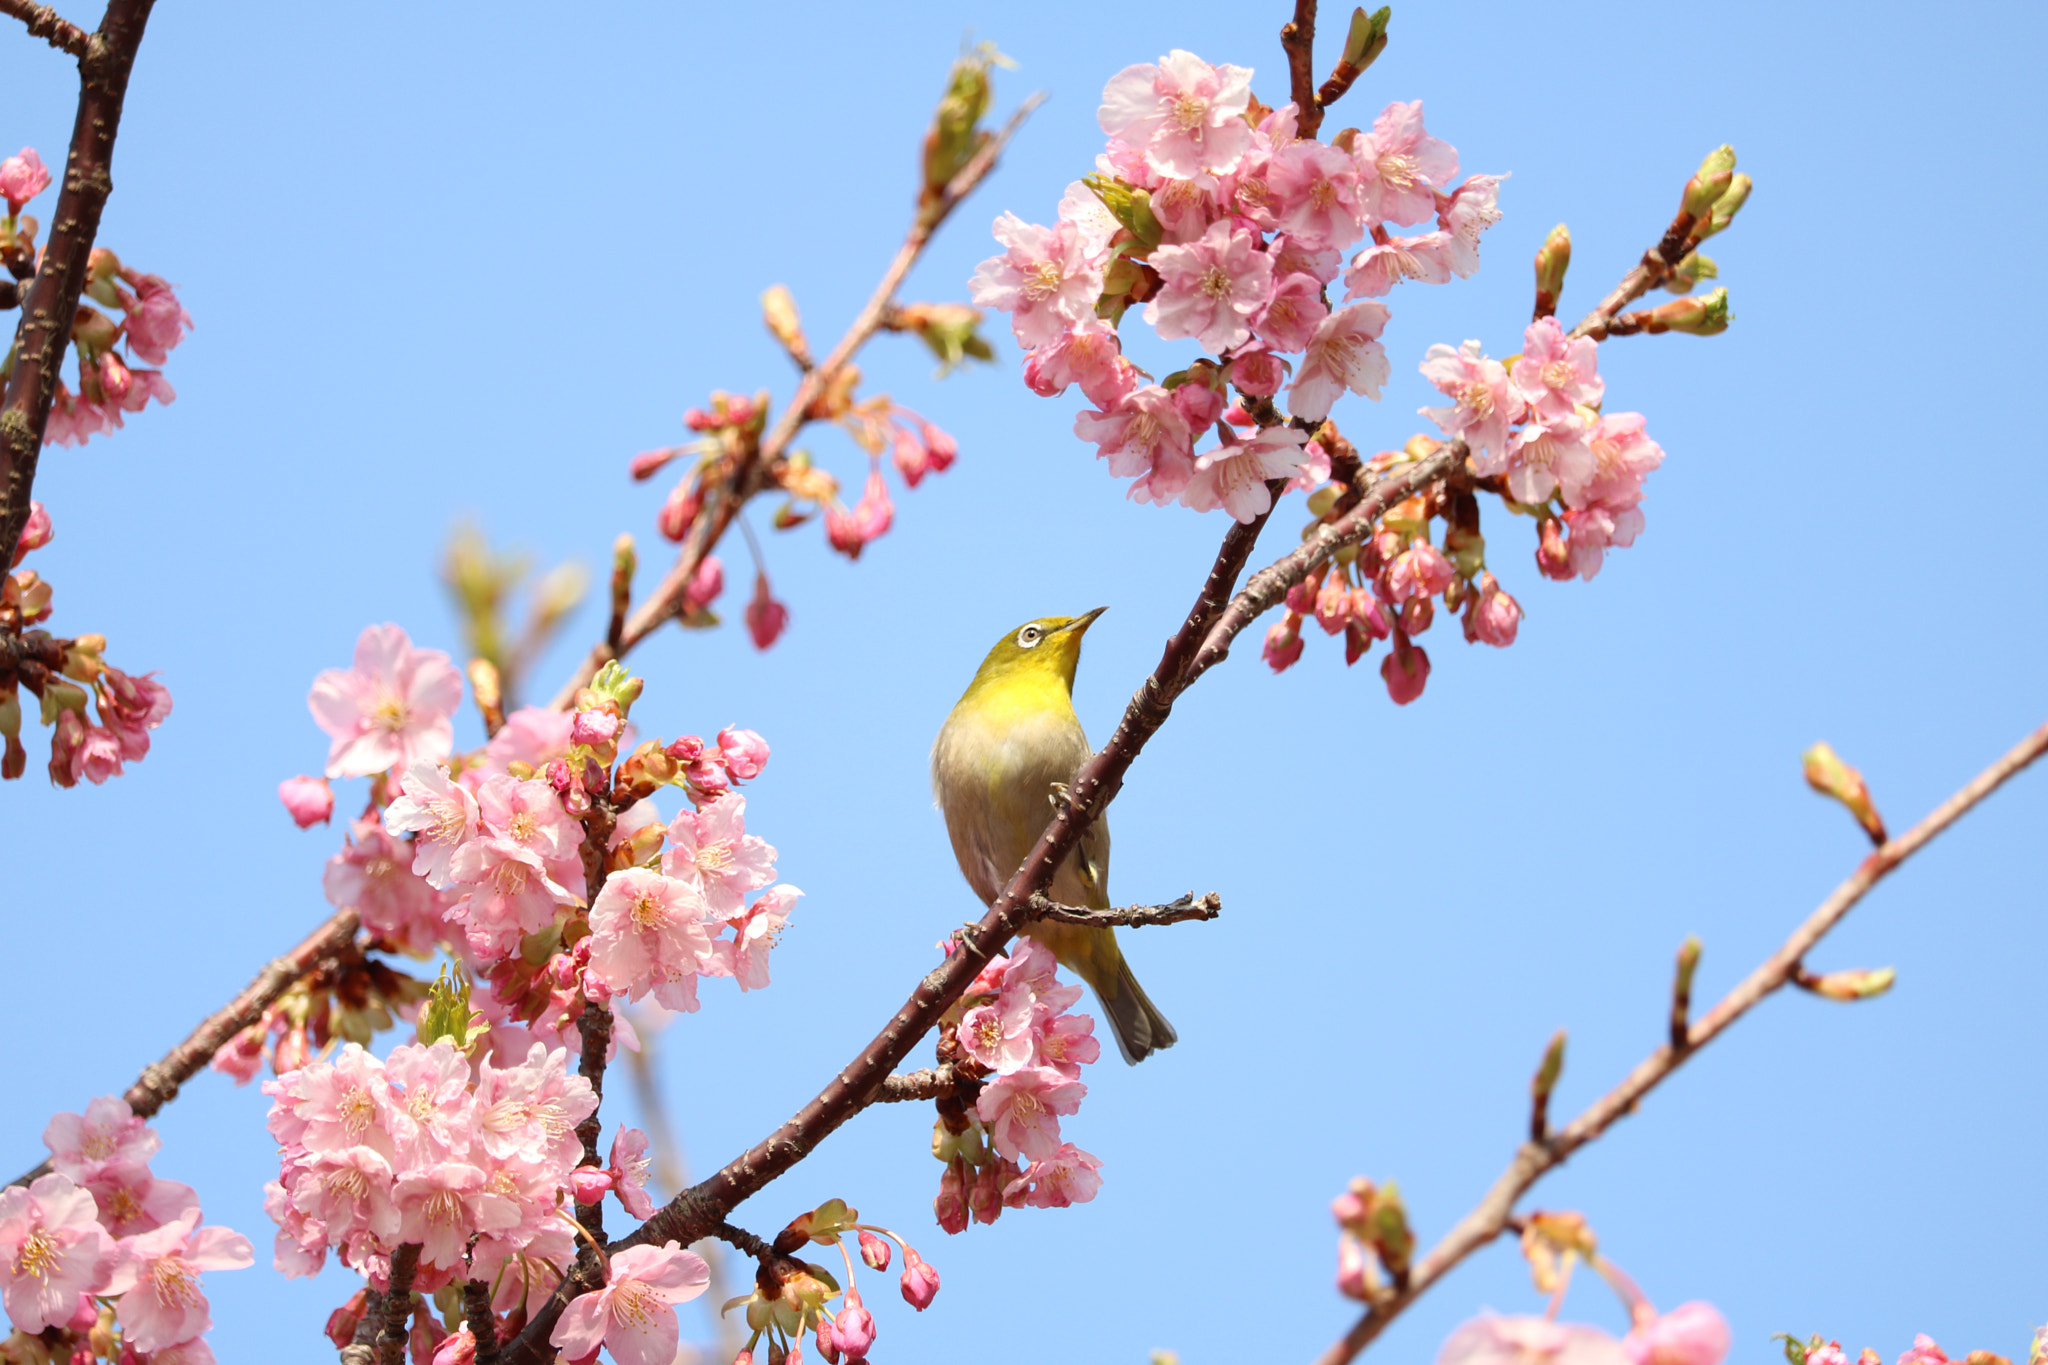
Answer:
[[[307,704],[334,745],[330,778],[367,778],[414,763],[438,763],[455,749],[455,708],[463,675],[438,649],[414,649],[397,626],[369,626],[352,669],[313,679]]]

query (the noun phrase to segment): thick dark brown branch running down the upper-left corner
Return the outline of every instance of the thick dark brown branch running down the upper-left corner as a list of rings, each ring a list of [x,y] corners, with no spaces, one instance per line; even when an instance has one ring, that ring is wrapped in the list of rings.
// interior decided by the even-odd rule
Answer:
[[[129,72],[143,25],[156,0],[109,0],[98,33],[78,59],[78,119],[63,164],[63,188],[51,215],[43,264],[20,301],[14,334],[14,375],[0,397],[0,544],[20,540],[35,489],[35,463],[43,454],[49,405],[57,397],[57,370],[72,340],[78,295],[86,287],[92,239],[115,188],[115,133]],[[33,25],[31,25],[33,29]],[[70,51],[70,49],[68,49]]]

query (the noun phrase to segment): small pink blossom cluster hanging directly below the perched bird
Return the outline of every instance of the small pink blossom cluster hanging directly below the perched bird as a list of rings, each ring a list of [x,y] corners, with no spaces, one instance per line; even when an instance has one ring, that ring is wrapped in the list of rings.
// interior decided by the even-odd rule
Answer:
[[[1087,1095],[1081,1066],[1102,1054],[1096,1021],[1067,1013],[1079,999],[1079,986],[1061,984],[1053,950],[1026,937],[942,1021],[940,1058],[981,1081],[973,1105],[940,1101],[932,1130],[932,1154],[946,1162],[932,1209],[946,1232],[969,1218],[991,1224],[1004,1207],[1087,1203],[1102,1187],[1102,1162],[1059,1132]]]

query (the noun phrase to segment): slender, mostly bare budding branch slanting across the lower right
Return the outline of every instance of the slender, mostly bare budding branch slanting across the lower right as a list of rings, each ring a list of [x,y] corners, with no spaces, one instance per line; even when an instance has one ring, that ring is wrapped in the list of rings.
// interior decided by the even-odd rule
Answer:
[[[1962,819],[1995,790],[2005,786],[2009,778],[2042,753],[2048,753],[2048,724],[2013,745],[2005,757],[1935,806],[1919,825],[1870,853],[1855,868],[1855,872],[1851,872],[1833,890],[1833,894],[1829,894],[1829,898],[1823,900],[1821,907],[1792,931],[1792,937],[1788,937],[1778,952],[1765,958],[1757,970],[1745,976],[1735,990],[1729,990],[1729,995],[1724,995],[1720,1003],[1706,1013],[1706,1017],[1686,1031],[1686,1046],[1673,1048],[1665,1044],[1657,1048],[1657,1052],[1638,1062],[1618,1087],[1602,1095],[1579,1117],[1575,1117],[1569,1128],[1552,1134],[1552,1138],[1542,1144],[1524,1142],[1516,1152],[1516,1158],[1507,1164],[1507,1171],[1503,1171],[1493,1183],[1493,1189],[1487,1191],[1485,1199],[1481,1199],[1479,1205],[1466,1214],[1456,1228],[1446,1232],[1444,1240],[1430,1248],[1430,1254],[1415,1265],[1409,1285],[1389,1293],[1384,1300],[1368,1308],[1364,1316],[1352,1324],[1352,1330],[1331,1342],[1331,1347],[1317,1357],[1317,1365],[1346,1365],[1352,1361],[1360,1351],[1372,1345],[1380,1332],[1386,1330],[1389,1322],[1399,1318],[1409,1304],[1421,1297],[1430,1285],[1448,1275],[1475,1250],[1501,1236],[1513,1220],[1516,1199],[1528,1193],[1538,1179],[1563,1164],[1573,1152],[1606,1134],[1616,1119],[1634,1113],[1636,1105],[1642,1103],[1642,1097],[1655,1091],[1657,1085],[1677,1070],[1694,1052],[1718,1038],[1729,1025],[1755,1009],[1774,990],[1784,988],[1796,976],[1800,958],[1804,958],[1812,945],[1829,933],[1829,929],[1839,925],[1841,919],[1853,911],[1878,882],[1898,868],[1898,864],[1913,857],[1913,853],[1927,847],[1927,843],[1931,843],[1942,831]]]

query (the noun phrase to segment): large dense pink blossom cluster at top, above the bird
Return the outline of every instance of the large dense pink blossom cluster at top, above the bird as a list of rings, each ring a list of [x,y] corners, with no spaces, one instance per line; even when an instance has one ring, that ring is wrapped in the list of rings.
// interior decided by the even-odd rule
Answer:
[[[1249,522],[1272,508],[1268,479],[1315,458],[1309,438],[1339,395],[1380,395],[1389,309],[1376,299],[1403,278],[1479,268],[1499,178],[1452,184],[1458,153],[1425,131],[1419,100],[1323,143],[1298,135],[1294,104],[1260,104],[1247,68],[1188,51],[1114,76],[1098,119],[1096,174],[1067,186],[1053,227],[995,221],[1006,250],[975,272],[975,303],[1010,313],[1032,391],[1081,385],[1096,407],[1075,434],[1133,479],[1130,497]],[[1403,223],[1434,227],[1389,231]],[[1192,338],[1210,356],[1145,383],[1118,336],[1137,303],[1161,340]],[[1292,424],[1274,407],[1282,387]],[[1196,454],[1219,417],[1235,422]]]

